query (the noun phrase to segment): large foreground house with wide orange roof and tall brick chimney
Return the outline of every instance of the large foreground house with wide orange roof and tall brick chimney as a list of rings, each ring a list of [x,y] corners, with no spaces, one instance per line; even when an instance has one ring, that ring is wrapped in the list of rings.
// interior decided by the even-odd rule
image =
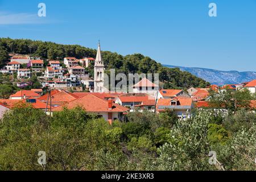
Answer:
[[[129,110],[127,107],[114,104],[111,99],[105,101],[93,94],[88,94],[84,97],[68,102],[67,104],[55,107],[52,111],[54,113],[56,111],[63,110],[64,107],[67,107],[67,109],[73,109],[76,106],[81,106],[87,113],[92,113],[97,115],[99,118],[104,118],[105,121],[108,121],[110,124],[112,124],[116,119],[122,121],[123,113],[126,113]]]

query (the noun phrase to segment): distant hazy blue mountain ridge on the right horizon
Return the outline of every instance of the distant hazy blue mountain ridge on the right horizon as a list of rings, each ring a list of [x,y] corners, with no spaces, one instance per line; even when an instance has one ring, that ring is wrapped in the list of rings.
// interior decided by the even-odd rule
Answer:
[[[225,85],[225,84],[240,84],[256,79],[256,72],[238,72],[238,71],[218,71],[208,68],[190,68],[179,67],[174,65],[164,65],[168,68],[180,68],[181,71],[189,72],[199,78],[203,78],[210,84]]]

